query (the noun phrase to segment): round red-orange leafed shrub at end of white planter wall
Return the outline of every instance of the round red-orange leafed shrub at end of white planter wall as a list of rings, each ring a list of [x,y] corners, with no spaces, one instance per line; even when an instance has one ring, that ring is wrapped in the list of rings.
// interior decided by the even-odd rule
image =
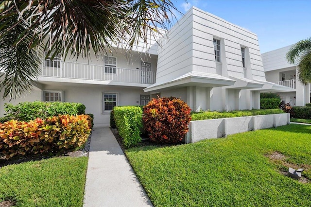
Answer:
[[[190,107],[175,97],[152,99],[143,107],[144,128],[152,141],[176,143],[185,137]]]

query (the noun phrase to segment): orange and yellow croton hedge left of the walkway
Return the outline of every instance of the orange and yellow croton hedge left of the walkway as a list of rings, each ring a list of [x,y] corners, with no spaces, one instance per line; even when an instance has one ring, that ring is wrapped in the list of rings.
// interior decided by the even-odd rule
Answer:
[[[57,152],[83,145],[91,132],[89,115],[59,115],[45,120],[10,120],[0,123],[0,154]]]

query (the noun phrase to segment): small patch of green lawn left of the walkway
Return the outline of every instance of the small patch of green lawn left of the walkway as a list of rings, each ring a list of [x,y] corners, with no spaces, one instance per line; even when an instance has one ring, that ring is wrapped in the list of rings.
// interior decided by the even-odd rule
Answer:
[[[87,157],[55,157],[0,169],[0,202],[23,207],[82,207]]]

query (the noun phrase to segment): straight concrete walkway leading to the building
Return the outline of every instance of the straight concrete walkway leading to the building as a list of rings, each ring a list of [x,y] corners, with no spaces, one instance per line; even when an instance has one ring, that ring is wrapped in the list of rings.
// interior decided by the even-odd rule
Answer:
[[[108,127],[94,128],[88,155],[84,207],[152,207]]]

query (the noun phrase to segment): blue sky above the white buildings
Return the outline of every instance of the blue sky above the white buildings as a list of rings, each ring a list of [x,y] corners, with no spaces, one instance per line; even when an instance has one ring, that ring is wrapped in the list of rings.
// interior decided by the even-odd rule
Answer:
[[[258,35],[260,52],[311,37],[311,0],[172,0],[186,13],[198,7]],[[177,19],[181,16],[177,15]]]

